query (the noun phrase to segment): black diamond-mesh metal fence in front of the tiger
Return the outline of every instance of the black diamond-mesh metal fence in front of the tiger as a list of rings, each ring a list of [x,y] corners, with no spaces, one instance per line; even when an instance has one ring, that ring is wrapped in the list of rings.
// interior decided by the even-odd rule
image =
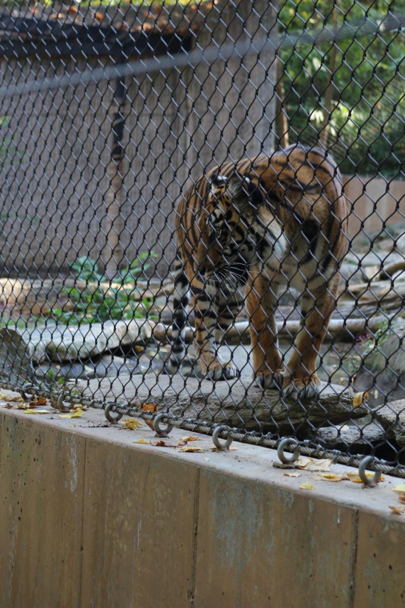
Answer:
[[[0,22],[2,389],[404,476],[403,3]]]

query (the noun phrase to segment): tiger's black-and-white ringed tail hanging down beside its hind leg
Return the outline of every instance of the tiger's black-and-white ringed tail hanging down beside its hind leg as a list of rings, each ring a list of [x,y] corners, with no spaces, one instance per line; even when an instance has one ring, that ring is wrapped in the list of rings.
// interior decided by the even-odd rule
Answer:
[[[185,268],[181,260],[177,260],[174,269],[174,297],[173,297],[173,323],[172,323],[172,351],[166,371],[174,374],[179,370],[186,354],[185,334],[188,305],[190,302],[190,285]]]

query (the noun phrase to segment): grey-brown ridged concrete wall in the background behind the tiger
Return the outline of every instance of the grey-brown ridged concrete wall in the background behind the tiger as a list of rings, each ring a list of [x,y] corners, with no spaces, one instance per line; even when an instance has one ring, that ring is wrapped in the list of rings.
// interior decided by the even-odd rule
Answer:
[[[237,7],[237,9],[235,9]],[[276,13],[265,0],[219,0],[195,49],[270,32]],[[127,79],[123,107],[123,204],[114,219],[123,266],[154,250],[166,273],[175,255],[174,203],[209,165],[274,146],[274,55]],[[108,57],[18,58],[0,63],[2,83],[81,72]],[[0,268],[36,275],[69,269],[80,255],[109,260],[106,198],[114,82],[68,87],[0,102]],[[1,161],[1,158],[0,158]],[[38,269],[38,270],[37,270]]]

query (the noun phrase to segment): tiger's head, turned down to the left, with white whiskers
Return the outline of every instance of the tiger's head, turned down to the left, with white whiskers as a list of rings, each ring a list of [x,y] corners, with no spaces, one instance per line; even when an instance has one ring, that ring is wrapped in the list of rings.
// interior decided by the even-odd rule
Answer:
[[[200,232],[194,270],[224,293],[247,283],[249,269],[284,257],[286,243],[259,185],[236,171],[211,179],[197,214]],[[274,265],[274,263],[273,263]]]

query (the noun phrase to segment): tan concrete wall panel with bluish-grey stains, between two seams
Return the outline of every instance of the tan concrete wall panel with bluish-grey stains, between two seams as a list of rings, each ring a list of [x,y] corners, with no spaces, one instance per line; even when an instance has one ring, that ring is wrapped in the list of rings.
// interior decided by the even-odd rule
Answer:
[[[201,472],[196,606],[348,606],[355,510],[301,492]]]

